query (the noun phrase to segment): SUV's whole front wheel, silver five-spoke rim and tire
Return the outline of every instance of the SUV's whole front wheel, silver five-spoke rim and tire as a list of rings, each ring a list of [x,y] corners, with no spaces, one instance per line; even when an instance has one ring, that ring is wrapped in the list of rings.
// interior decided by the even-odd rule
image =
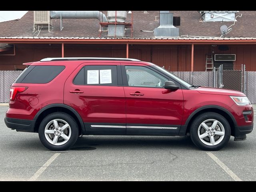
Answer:
[[[190,126],[192,142],[203,150],[215,151],[223,148],[228,143],[230,134],[226,118],[214,112],[197,116]]]

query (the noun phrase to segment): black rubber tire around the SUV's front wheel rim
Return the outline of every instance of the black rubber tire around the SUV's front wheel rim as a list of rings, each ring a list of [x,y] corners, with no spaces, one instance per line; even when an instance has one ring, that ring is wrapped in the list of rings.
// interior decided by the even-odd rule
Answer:
[[[204,144],[198,136],[198,129],[199,129],[200,124],[202,124],[202,122],[204,122],[206,120],[210,120],[210,119],[214,119],[214,120],[217,120],[218,122],[220,122],[223,125],[224,132],[225,132],[224,138],[218,144],[213,145],[213,146]],[[201,129],[202,129],[202,127],[201,127]],[[206,113],[200,114],[199,116],[197,116],[195,118],[195,120],[192,122],[192,124],[190,126],[190,138],[191,138],[192,142],[199,148],[206,150],[206,151],[216,151],[216,150],[219,150],[219,149],[223,148],[224,146],[226,146],[226,144],[228,143],[228,141],[230,139],[230,134],[231,134],[230,124],[228,123],[226,118],[224,118],[222,115],[214,113],[214,112],[206,112]],[[208,137],[208,138],[209,138],[209,141],[206,141],[206,142],[210,142],[210,137]],[[217,136],[217,139],[218,139],[218,136]]]

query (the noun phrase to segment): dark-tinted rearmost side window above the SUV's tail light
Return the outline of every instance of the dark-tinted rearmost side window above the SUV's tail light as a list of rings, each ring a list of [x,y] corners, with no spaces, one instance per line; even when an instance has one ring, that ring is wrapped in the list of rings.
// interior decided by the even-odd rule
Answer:
[[[48,83],[52,81],[65,66],[29,66],[14,83]]]

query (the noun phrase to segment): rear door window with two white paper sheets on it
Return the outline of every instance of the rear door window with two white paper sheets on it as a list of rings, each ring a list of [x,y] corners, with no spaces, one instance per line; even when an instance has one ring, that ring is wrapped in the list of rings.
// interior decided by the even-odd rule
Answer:
[[[84,66],[74,78],[73,83],[76,85],[117,86],[117,66]]]

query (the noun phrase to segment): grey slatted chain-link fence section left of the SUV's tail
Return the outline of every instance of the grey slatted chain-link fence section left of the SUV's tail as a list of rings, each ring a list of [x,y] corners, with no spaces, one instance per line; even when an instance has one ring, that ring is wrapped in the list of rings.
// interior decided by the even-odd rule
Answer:
[[[22,71],[0,71],[0,103],[8,103],[10,86]]]

